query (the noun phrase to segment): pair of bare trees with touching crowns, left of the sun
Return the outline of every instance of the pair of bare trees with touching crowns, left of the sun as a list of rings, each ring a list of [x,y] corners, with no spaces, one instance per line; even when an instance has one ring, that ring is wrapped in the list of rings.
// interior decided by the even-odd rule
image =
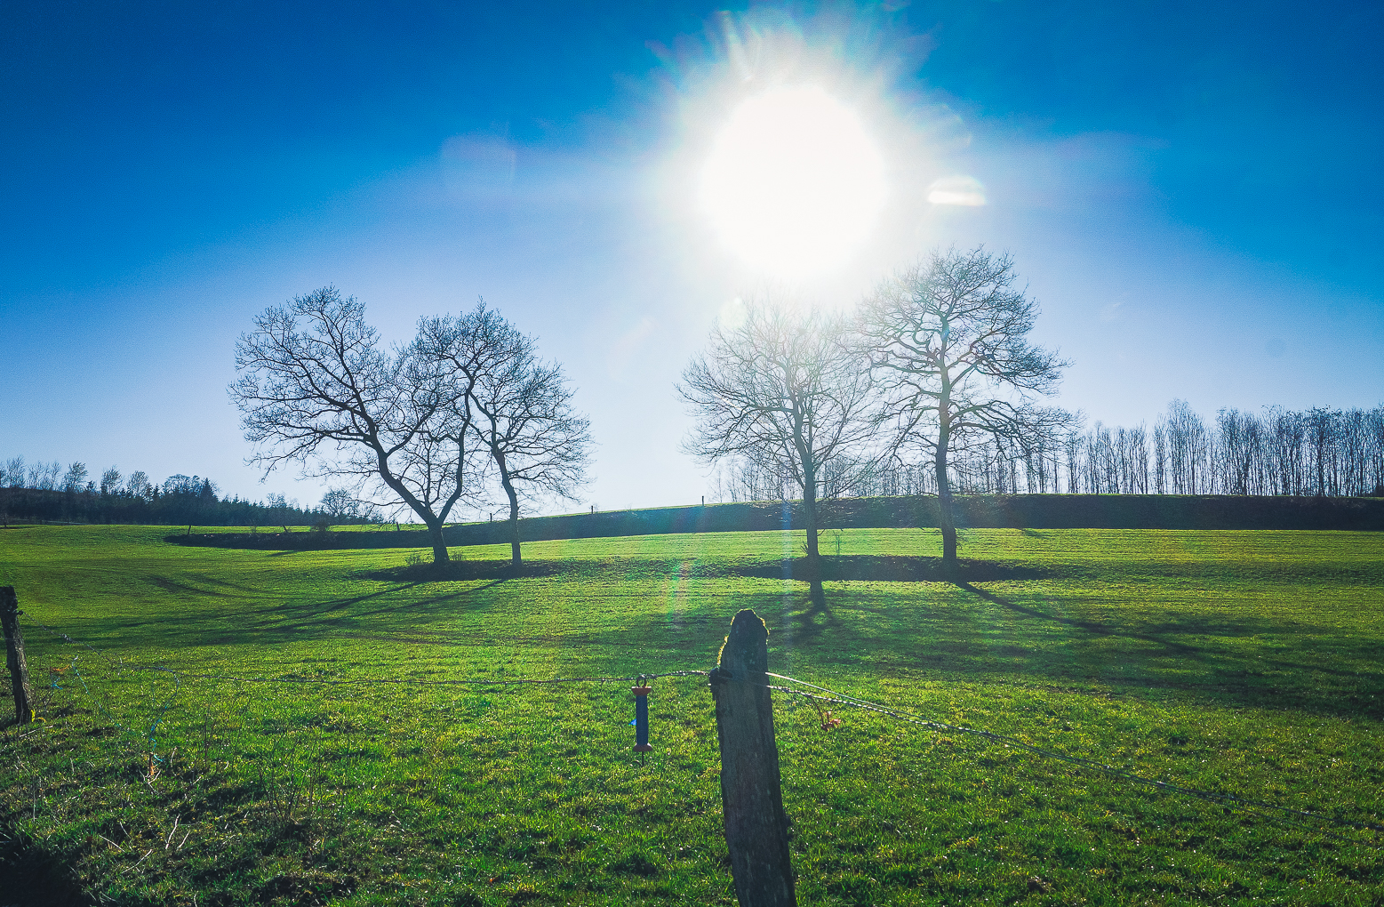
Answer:
[[[482,300],[424,317],[385,349],[354,298],[325,287],[267,309],[235,349],[231,385],[266,474],[345,478],[358,500],[411,510],[447,561],[443,526],[458,507],[502,494],[520,566],[520,503],[573,497],[585,481],[588,422],[562,368]]]

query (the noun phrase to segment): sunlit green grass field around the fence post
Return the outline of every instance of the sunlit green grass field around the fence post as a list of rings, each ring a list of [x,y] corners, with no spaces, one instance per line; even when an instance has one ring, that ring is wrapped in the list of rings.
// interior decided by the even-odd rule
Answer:
[[[406,550],[188,548],[167,532],[0,530],[0,583],[18,589],[46,717],[3,731],[0,889],[61,882],[102,903],[198,907],[734,904],[704,679],[653,683],[656,749],[641,759],[628,683],[253,684],[131,667],[709,669],[746,607],[770,625],[770,670],[1384,824],[1384,535],[969,530],[963,557],[1042,577],[833,582],[814,615],[801,583],[735,575],[796,554],[800,535],[531,543],[529,559],[561,569],[419,582],[382,579]],[[931,530],[823,540],[829,557],[937,547]],[[837,715],[823,731],[808,701],[775,694],[803,904],[1384,903],[1381,832]]]

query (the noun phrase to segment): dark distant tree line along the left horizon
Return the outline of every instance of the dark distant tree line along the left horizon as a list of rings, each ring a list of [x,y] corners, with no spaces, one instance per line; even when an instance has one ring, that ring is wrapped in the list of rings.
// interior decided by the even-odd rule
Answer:
[[[332,489],[317,507],[270,494],[262,501],[221,497],[216,482],[172,475],[154,483],[144,471],[116,467],[89,478],[83,463],[0,460],[0,519],[198,526],[310,526],[378,522],[374,508]]]

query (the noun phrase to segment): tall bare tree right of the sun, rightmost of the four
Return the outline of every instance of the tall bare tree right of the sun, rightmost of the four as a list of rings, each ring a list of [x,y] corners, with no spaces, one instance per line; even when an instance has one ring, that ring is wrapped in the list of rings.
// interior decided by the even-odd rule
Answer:
[[[1013,260],[984,248],[933,252],[865,300],[859,334],[895,447],[931,456],[943,562],[956,565],[948,456],[977,436],[1017,450],[1053,443],[1070,415],[1035,399],[1056,390],[1062,361],[1028,342],[1038,305],[1014,289]]]

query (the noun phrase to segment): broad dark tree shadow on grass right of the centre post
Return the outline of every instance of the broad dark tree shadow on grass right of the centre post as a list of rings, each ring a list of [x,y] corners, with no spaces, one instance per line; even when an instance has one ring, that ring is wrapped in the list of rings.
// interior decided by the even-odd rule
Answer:
[[[794,583],[805,587],[805,583]],[[858,672],[861,676],[912,676],[977,684],[1082,688],[1110,695],[1192,695],[1232,708],[1301,710],[1348,719],[1384,719],[1384,672],[1331,666],[1276,656],[1272,643],[1255,637],[1304,631],[1323,637],[1334,658],[1378,665],[1384,651],[1336,627],[1286,627],[1272,619],[1200,612],[1178,620],[1139,626],[1128,622],[1053,613],[1014,601],[969,582],[937,584],[923,594],[898,598],[890,590],[828,587],[830,618],[811,608],[803,590],[783,608],[782,593],[739,595],[735,609],[754,608],[770,625],[771,661],[792,652],[799,676],[811,667]],[[998,619],[990,607],[1012,615]],[[711,616],[729,625],[734,609]],[[630,626],[631,633],[641,627]],[[655,631],[653,626],[648,631]],[[1171,637],[1201,637],[1185,641]],[[1240,641],[1246,645],[1240,645]],[[1298,649],[1304,655],[1309,649]],[[1372,698],[1372,694],[1374,697]]]

